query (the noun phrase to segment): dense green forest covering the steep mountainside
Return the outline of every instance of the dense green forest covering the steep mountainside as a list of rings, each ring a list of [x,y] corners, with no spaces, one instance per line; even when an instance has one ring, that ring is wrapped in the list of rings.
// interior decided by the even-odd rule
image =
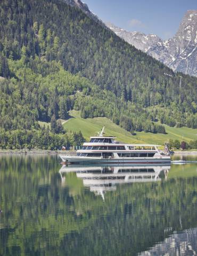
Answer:
[[[70,140],[57,121],[70,109],[108,117],[130,132],[165,133],[162,124],[196,128],[197,78],[182,74],[180,88],[179,75],[63,1],[3,0],[0,147],[77,145],[81,134]],[[41,146],[35,138],[49,131],[38,121],[51,120],[55,142]]]

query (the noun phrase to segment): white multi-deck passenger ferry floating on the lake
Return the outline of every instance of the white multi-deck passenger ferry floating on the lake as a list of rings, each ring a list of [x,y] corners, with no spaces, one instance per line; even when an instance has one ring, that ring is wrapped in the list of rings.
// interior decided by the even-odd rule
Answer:
[[[76,155],[60,155],[67,164],[155,164],[170,163],[170,155],[161,153],[159,145],[126,144],[115,140],[116,137],[104,136],[104,127],[97,136],[91,137],[84,143],[83,148],[77,150]]]

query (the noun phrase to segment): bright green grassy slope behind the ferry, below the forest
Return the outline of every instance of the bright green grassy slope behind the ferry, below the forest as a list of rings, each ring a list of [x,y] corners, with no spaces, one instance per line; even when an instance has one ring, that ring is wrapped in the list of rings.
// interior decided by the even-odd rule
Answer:
[[[103,125],[105,125],[106,135],[116,136],[117,140],[128,143],[153,143],[162,145],[163,142],[168,141],[169,139],[178,139],[179,141],[197,139],[197,129],[190,129],[187,127],[174,128],[165,125],[168,134],[137,132],[137,135],[133,136],[105,117],[83,119],[80,117],[79,112],[75,110],[70,111],[70,116],[71,118],[68,122],[64,123],[64,128],[68,131],[80,130],[86,140],[89,140],[89,137],[93,136],[95,132],[101,131]]]

